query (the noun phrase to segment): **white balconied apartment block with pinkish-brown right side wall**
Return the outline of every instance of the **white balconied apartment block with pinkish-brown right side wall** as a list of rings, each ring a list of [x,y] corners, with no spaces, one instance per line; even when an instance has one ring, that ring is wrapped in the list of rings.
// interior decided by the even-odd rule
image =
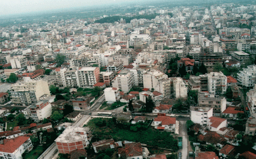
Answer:
[[[78,69],[79,87],[89,88],[93,87],[99,82],[99,67],[82,67]]]

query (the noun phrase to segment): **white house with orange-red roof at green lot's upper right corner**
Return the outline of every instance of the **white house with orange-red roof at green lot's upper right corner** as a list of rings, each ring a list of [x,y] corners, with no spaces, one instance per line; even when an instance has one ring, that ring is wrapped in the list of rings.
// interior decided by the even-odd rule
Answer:
[[[153,123],[158,130],[175,131],[176,118],[170,116],[157,116],[154,118]]]

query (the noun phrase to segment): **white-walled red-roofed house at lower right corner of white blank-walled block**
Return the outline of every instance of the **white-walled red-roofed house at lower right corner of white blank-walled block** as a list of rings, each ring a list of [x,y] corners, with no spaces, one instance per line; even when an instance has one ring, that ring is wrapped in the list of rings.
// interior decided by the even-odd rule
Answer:
[[[210,131],[218,131],[220,128],[227,126],[227,120],[223,118],[218,118],[211,116],[208,118],[208,126]]]

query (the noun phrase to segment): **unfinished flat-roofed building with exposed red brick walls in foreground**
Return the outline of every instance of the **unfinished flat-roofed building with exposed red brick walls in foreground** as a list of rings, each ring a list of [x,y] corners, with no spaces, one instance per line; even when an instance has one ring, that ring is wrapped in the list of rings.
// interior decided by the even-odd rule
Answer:
[[[90,128],[68,126],[60,136],[55,139],[59,153],[70,153],[74,150],[85,149],[92,137]]]

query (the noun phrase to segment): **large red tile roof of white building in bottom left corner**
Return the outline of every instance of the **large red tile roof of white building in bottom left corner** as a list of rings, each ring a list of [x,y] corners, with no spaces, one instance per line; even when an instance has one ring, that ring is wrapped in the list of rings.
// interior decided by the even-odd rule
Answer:
[[[0,151],[6,153],[13,153],[29,138],[30,137],[19,136],[14,139],[7,140],[4,142],[4,144],[0,144]]]

